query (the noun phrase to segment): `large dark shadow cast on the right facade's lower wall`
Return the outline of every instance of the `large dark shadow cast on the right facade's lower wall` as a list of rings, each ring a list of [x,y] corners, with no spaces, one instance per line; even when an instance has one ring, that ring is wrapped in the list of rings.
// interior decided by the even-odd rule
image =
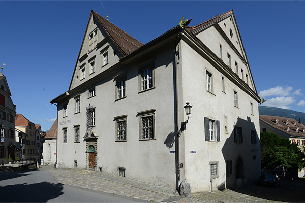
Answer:
[[[229,137],[226,138],[226,135]],[[249,179],[249,176],[252,174],[249,170],[255,170],[253,165],[257,161],[254,164],[251,161],[255,161],[256,159],[256,156],[254,157],[253,154],[260,155],[260,153],[257,153],[257,151],[260,151],[260,145],[256,144],[260,140],[250,117],[247,117],[247,120],[238,118],[237,122],[234,123],[233,131],[231,133],[228,132],[228,134],[225,133],[225,138],[226,142],[222,148],[222,153],[226,161],[227,188],[249,184],[250,182],[256,183],[256,180]],[[260,157],[257,158],[259,160]],[[245,164],[245,161],[247,161],[247,164]],[[258,168],[260,170],[260,167]],[[246,171],[248,172],[247,178]],[[223,189],[223,185],[219,189]]]

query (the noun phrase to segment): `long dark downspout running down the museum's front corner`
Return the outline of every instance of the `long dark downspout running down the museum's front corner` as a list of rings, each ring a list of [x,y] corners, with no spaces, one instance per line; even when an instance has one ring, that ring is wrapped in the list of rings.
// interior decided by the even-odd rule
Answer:
[[[178,131],[179,131],[179,116],[178,116],[178,113],[179,113],[179,109],[178,109],[178,90],[177,90],[177,85],[178,85],[178,82],[177,82],[177,64],[179,64],[179,61],[176,61],[176,56],[178,56],[178,60],[180,59],[179,58],[179,52],[177,53],[177,45],[179,44],[180,40],[181,40],[181,32],[182,32],[182,29],[179,27],[178,29],[178,33],[177,33],[177,37],[176,37],[176,40],[175,40],[175,52],[174,52],[174,64],[173,64],[173,67],[174,67],[174,70],[173,70],[173,74],[174,74],[174,92],[175,92],[175,101],[174,101],[174,108],[175,108],[175,127],[176,127],[176,147],[177,147],[177,150],[176,150],[176,157],[177,157],[177,165],[176,165],[176,176],[177,176],[177,183],[176,183],[176,189],[178,192],[179,191],[179,187],[180,187],[180,150],[179,150],[179,137],[178,137]]]

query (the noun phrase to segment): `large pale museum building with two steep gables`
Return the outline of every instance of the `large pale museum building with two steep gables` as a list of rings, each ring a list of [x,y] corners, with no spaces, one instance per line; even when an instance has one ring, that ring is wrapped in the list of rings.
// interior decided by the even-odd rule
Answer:
[[[172,188],[186,179],[192,192],[256,183],[259,101],[233,11],[146,44],[92,11],[69,90],[51,101],[57,164]]]

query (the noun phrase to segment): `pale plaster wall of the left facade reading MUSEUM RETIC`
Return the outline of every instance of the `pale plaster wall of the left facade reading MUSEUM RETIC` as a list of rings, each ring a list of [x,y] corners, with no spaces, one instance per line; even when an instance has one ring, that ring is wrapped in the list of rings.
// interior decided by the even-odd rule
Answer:
[[[63,104],[58,112],[58,166],[73,167],[73,160],[78,167],[86,167],[86,142],[82,139],[86,133],[86,107],[96,107],[96,126],[98,137],[97,166],[103,171],[118,174],[117,167],[126,168],[126,176],[144,182],[175,187],[175,154],[167,148],[165,140],[174,132],[173,105],[173,51],[163,47],[163,51],[151,53],[156,56],[155,88],[139,92],[139,68],[145,63],[144,58],[130,64],[119,73],[96,83],[96,96],[88,98],[88,91],[71,95],[68,103],[68,116],[63,118]],[[115,101],[114,76],[126,73],[126,98]],[[88,87],[87,89],[92,88]],[[80,94],[80,113],[75,114],[74,96]],[[156,140],[139,141],[138,112],[156,109]],[[115,142],[114,117],[127,115],[127,141]],[[63,121],[66,121],[66,123]],[[68,121],[68,122],[67,122]],[[74,143],[74,125],[80,125],[80,143]],[[63,128],[67,127],[67,143],[63,143]]]

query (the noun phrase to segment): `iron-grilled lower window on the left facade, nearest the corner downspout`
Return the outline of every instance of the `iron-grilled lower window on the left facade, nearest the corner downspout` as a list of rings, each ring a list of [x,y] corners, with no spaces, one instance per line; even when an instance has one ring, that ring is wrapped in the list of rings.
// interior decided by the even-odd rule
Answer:
[[[155,114],[140,115],[140,140],[155,139]]]

